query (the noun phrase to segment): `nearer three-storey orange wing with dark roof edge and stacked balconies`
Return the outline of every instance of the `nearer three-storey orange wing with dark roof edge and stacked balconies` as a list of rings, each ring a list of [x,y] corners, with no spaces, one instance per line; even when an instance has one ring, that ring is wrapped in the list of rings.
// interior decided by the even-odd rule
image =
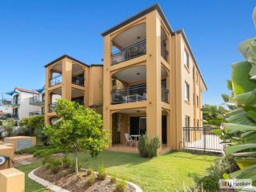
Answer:
[[[112,145],[125,134],[158,136],[160,153],[180,150],[184,126],[202,126],[206,90],[183,30],[174,31],[158,4],[106,30],[103,119]]]

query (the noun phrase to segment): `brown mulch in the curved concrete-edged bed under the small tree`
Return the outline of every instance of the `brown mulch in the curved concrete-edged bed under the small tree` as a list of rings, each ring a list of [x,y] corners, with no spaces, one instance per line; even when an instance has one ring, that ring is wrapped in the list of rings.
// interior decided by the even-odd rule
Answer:
[[[90,177],[87,175],[86,171],[82,172],[82,178],[78,178],[76,174],[67,174],[65,177],[62,177],[62,171],[58,172],[57,174],[52,174],[50,170],[47,170],[44,166],[42,166],[36,170],[34,174],[39,178],[53,182],[56,186],[61,186],[66,190],[70,190],[71,192],[114,192],[115,187],[114,184],[111,183],[110,178],[106,178],[106,180],[100,180],[96,176],[94,184],[92,186],[86,186],[86,178]],[[134,187],[128,184],[126,192],[134,191]]]

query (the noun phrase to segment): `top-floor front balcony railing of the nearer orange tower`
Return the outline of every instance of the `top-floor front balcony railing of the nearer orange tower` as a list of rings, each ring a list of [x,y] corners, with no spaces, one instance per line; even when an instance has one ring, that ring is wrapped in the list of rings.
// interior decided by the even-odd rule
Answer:
[[[118,52],[113,53],[112,56],[112,65],[115,65],[119,62],[124,62],[132,58],[137,58],[146,54],[146,39],[141,42],[136,42],[131,46],[127,46]]]

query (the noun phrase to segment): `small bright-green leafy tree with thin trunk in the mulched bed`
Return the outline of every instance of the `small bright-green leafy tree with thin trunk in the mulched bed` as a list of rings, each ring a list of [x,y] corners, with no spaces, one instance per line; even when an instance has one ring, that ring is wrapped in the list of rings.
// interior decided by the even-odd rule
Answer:
[[[53,126],[46,125],[44,132],[53,144],[74,151],[78,174],[78,151],[88,150],[91,157],[96,158],[108,144],[109,137],[102,127],[102,117],[94,110],[65,99],[58,99],[55,111],[59,120]]]

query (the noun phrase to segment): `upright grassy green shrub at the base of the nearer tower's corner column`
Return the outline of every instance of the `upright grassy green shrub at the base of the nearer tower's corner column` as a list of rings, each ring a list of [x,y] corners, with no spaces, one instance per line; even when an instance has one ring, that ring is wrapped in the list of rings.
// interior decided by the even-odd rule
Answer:
[[[142,158],[153,158],[158,155],[158,148],[161,146],[161,142],[158,137],[154,137],[149,140],[144,134],[138,140],[138,152]]]

